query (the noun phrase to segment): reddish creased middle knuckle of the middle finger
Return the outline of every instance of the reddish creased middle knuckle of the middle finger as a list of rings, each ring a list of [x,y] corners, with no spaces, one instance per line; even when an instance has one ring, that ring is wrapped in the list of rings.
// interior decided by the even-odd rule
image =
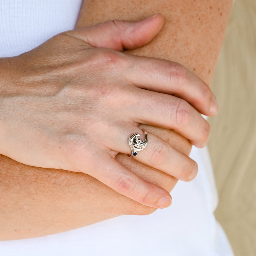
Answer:
[[[185,100],[177,98],[177,103],[171,112],[171,118],[174,119],[176,127],[186,127],[190,123],[190,107]]]

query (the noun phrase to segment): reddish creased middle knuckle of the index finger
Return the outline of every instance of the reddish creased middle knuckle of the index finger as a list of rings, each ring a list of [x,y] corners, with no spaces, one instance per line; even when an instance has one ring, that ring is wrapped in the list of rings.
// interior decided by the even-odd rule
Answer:
[[[187,69],[177,62],[171,62],[169,70],[170,81],[175,84],[179,89],[187,82]]]

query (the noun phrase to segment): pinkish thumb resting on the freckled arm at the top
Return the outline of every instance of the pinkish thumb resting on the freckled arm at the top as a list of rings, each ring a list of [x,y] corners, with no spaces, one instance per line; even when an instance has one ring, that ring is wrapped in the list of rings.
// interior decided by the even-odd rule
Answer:
[[[163,23],[162,14],[155,14],[140,21],[111,20],[72,30],[72,36],[82,39],[92,47],[123,51],[135,49],[150,42],[161,30]]]

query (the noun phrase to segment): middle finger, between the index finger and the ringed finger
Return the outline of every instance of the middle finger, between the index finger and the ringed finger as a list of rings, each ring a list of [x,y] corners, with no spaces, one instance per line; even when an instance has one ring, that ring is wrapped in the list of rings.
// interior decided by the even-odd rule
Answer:
[[[134,123],[173,129],[197,147],[207,144],[210,125],[185,100],[139,88],[126,91],[127,95],[129,101],[123,101],[124,117]]]

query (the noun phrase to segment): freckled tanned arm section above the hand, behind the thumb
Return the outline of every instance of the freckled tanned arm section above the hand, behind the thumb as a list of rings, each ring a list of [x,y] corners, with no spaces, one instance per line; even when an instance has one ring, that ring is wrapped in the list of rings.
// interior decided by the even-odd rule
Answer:
[[[137,20],[160,12],[165,24],[146,46],[128,53],[176,61],[210,84],[225,34],[232,0],[83,2],[77,27],[111,19]]]

